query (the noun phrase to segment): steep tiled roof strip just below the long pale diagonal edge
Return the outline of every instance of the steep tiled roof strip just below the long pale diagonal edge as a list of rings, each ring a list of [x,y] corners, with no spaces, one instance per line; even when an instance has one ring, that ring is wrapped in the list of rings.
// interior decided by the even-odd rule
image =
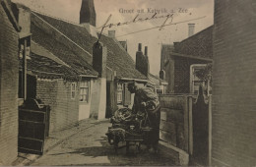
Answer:
[[[59,37],[60,40],[57,40]],[[32,40],[44,47],[52,54],[57,56],[63,62],[71,66],[79,75],[96,76],[97,73],[93,67],[88,63],[85,56],[77,54],[77,48],[73,47],[71,43],[66,42],[65,45],[54,30],[47,28],[40,20],[32,16]],[[65,40],[64,40],[65,41]],[[86,53],[84,53],[86,54]]]

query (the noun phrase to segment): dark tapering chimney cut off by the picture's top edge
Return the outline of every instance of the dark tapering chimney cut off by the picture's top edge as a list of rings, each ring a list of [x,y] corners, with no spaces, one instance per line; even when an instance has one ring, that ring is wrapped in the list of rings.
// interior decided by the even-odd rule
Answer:
[[[80,24],[90,24],[96,27],[96,10],[94,0],[82,0]]]

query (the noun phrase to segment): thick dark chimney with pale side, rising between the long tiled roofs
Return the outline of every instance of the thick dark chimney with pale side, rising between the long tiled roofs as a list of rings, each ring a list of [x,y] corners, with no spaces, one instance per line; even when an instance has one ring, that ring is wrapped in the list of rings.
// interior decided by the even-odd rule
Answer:
[[[96,42],[93,48],[93,68],[99,78],[106,78],[107,49],[101,42]]]

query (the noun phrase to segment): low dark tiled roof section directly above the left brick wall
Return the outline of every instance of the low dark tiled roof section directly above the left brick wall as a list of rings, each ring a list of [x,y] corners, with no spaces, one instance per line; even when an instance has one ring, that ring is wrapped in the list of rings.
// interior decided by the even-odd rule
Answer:
[[[77,74],[69,67],[32,53],[28,61],[28,71],[40,78],[76,79]]]

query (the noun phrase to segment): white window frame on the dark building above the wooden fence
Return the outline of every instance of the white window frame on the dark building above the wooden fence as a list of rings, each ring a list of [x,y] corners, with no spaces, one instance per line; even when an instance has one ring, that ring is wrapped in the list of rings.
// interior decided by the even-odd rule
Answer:
[[[196,75],[194,74],[195,70],[198,69],[203,69],[205,68],[207,65],[206,64],[194,64],[190,66],[190,93],[195,93],[195,82],[203,82],[202,85],[203,87],[206,85],[206,81],[202,81],[200,79],[196,79]],[[209,88],[209,87],[207,87]]]

